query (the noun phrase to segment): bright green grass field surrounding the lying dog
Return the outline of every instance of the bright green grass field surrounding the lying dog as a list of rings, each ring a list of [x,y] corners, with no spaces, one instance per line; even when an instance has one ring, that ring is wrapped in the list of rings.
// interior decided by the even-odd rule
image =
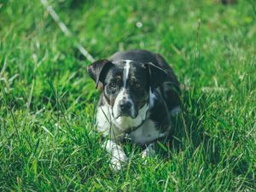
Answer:
[[[170,3],[171,2],[171,3]],[[256,2],[0,1],[1,191],[255,191]],[[113,172],[96,133],[96,59],[148,49],[170,62],[183,113],[147,163],[136,146]]]

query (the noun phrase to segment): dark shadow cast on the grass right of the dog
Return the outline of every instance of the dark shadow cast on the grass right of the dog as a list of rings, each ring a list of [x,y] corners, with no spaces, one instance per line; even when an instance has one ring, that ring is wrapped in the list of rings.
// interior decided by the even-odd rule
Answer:
[[[207,109],[211,105],[211,95],[194,90],[183,90],[182,112],[172,117],[172,136],[170,142],[162,145],[159,143],[159,152],[166,160],[172,158],[172,153],[184,151],[194,154],[195,150],[201,150],[207,161],[218,164],[219,146],[212,142],[212,136],[207,133],[203,122],[211,119],[206,115]],[[166,145],[166,148],[164,147]],[[212,150],[212,148],[214,148]],[[168,153],[166,153],[168,151]]]

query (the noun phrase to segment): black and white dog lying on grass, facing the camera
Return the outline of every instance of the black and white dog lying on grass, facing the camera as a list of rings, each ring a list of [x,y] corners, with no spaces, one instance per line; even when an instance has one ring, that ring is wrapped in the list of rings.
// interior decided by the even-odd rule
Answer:
[[[120,146],[125,139],[146,147],[170,135],[171,115],[180,110],[179,83],[165,59],[147,50],[118,52],[88,68],[96,88],[102,90],[98,103],[97,130],[108,137],[106,149],[113,168],[119,170],[126,155]]]

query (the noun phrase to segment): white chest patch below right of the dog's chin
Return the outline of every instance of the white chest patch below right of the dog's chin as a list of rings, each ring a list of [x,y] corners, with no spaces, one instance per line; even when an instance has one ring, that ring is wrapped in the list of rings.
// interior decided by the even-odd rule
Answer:
[[[151,119],[147,119],[136,131],[132,131],[129,137],[131,138],[131,142],[144,145],[163,137],[163,133],[160,133]]]

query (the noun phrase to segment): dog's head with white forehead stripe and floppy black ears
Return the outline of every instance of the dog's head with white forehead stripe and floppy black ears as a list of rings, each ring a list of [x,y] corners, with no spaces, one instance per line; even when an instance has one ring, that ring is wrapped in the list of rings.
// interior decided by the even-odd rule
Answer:
[[[103,90],[114,119],[136,119],[139,110],[148,105],[150,90],[166,79],[166,72],[150,62],[100,60],[87,70],[96,88]]]

